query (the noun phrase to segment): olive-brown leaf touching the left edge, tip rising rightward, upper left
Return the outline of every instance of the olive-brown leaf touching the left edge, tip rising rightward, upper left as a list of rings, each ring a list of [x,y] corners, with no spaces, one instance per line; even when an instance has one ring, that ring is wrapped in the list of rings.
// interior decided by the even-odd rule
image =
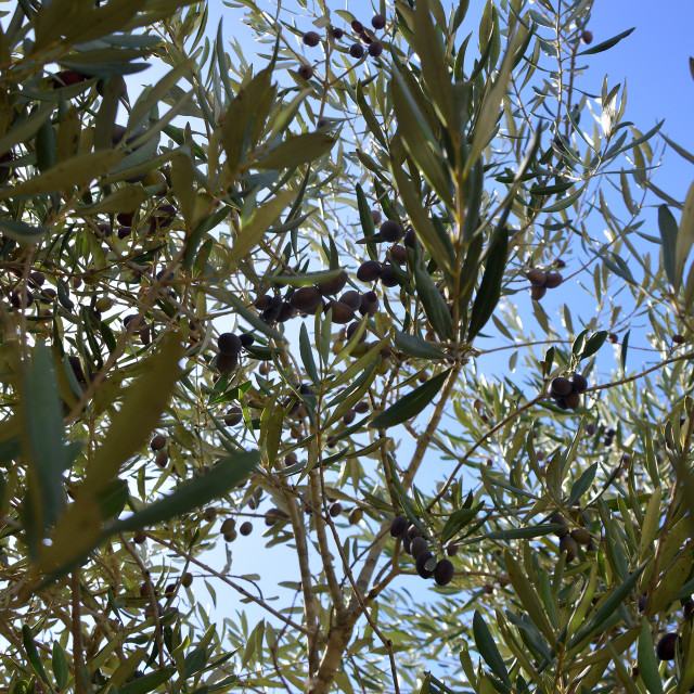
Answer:
[[[101,150],[78,154],[48,171],[35,176],[12,188],[0,191],[0,200],[55,193],[73,185],[87,185],[100,176],[107,174],[125,156],[116,150]]]

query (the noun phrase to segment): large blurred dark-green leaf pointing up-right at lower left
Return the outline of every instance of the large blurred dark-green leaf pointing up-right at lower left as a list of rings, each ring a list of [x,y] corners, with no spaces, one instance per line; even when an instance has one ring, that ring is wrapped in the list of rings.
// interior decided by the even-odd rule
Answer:
[[[190,513],[241,484],[260,460],[258,451],[235,453],[219,461],[209,472],[181,485],[175,492],[116,522],[108,530],[137,530]]]

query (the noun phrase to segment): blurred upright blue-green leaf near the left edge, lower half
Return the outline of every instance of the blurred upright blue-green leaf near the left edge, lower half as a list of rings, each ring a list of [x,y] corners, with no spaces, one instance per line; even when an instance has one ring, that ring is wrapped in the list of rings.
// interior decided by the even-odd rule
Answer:
[[[63,410],[51,350],[38,344],[25,367],[22,388],[24,450],[30,465],[30,489],[37,526],[52,525],[63,507],[66,467]]]

